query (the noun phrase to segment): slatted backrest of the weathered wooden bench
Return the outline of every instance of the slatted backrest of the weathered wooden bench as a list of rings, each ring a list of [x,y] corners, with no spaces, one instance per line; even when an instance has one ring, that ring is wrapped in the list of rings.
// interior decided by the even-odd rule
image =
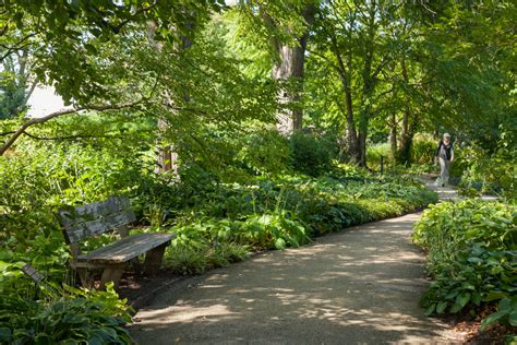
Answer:
[[[84,206],[62,209],[58,214],[69,245],[122,228],[136,219],[125,197],[112,197]]]

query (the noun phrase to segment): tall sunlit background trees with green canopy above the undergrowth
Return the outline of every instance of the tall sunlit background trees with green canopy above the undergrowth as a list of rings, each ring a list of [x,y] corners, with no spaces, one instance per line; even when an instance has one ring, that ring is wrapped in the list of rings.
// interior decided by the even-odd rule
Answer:
[[[223,132],[276,122],[290,136],[304,123],[361,166],[378,142],[407,165],[422,133],[494,153],[515,132],[506,1],[2,4],[3,117],[38,81],[76,109],[167,122],[159,141],[185,156],[227,146]]]

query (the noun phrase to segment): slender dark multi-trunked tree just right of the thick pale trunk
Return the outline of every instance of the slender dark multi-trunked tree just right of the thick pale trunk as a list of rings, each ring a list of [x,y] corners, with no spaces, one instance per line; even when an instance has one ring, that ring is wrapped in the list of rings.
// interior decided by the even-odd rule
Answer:
[[[316,15],[311,56],[339,80],[345,140],[350,158],[366,166],[369,121],[377,114],[377,86],[393,61],[389,35],[399,5],[387,1],[330,0]]]

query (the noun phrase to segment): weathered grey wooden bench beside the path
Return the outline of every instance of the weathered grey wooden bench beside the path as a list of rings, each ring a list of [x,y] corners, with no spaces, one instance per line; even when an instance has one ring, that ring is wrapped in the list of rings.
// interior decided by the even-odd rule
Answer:
[[[128,198],[113,197],[106,201],[59,211],[59,219],[73,259],[72,267],[79,273],[84,286],[91,284],[88,272],[104,269],[100,287],[112,281],[118,287],[128,263],[141,254],[145,255],[144,272],[156,275],[161,259],[175,234],[135,234],[129,236],[129,225],[136,218]],[[82,253],[80,242],[104,233],[117,230],[121,239],[87,253]]]

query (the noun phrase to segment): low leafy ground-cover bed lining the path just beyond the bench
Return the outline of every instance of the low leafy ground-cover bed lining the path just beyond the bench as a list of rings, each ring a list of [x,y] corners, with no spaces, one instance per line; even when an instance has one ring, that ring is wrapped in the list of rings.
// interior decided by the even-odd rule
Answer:
[[[194,203],[180,185],[175,193],[176,214],[160,224],[179,235],[168,249],[172,267],[179,273],[200,273],[244,258],[242,248],[298,247],[316,236],[397,216],[436,200],[416,181],[359,172],[347,176],[339,168],[334,174],[212,186],[197,191],[203,202]],[[214,254],[228,258],[211,259]]]

